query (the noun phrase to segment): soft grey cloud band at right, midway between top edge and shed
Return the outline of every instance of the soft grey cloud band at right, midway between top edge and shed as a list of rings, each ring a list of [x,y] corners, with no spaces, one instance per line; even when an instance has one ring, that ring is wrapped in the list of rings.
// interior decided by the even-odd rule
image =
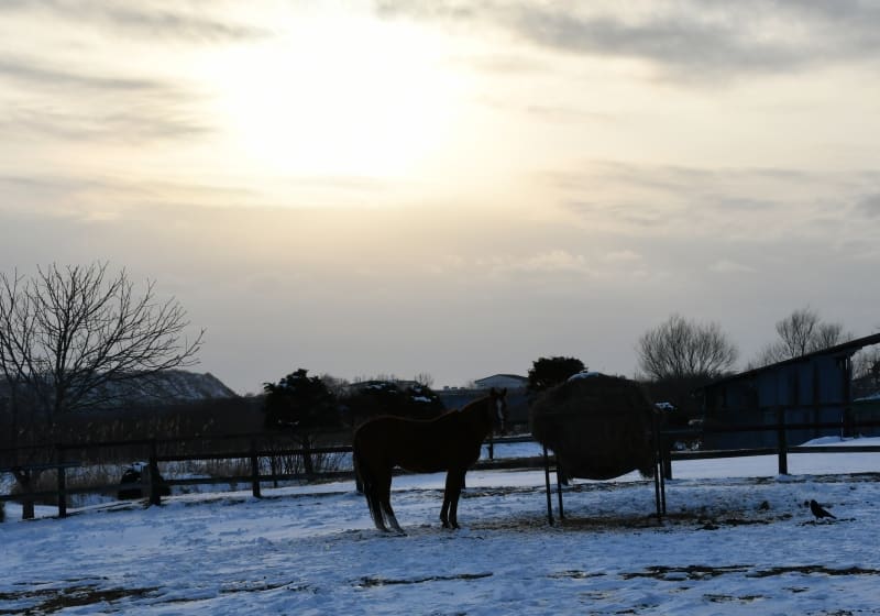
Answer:
[[[844,224],[846,195],[866,182],[859,172],[602,161],[544,179],[559,195],[561,208],[585,228],[639,238],[724,237],[748,242],[826,237],[832,224]],[[870,211],[870,205],[861,211]]]

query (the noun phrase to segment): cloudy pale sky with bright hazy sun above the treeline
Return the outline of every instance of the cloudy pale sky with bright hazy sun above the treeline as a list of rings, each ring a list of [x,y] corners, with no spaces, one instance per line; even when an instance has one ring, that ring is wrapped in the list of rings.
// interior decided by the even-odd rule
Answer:
[[[7,0],[0,267],[107,262],[239,393],[880,329],[871,2]]]

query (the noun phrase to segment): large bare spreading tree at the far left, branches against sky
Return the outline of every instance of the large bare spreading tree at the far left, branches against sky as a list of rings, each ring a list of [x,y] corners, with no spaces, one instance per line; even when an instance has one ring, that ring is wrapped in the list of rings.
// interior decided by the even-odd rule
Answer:
[[[154,282],[136,295],[127,272],[109,275],[107,264],[53,264],[31,278],[0,273],[13,442],[22,413],[48,428],[59,414],[119,402],[127,383],[193,365],[205,332],[190,341],[189,326],[176,300],[157,301]],[[31,476],[16,479],[26,488]]]

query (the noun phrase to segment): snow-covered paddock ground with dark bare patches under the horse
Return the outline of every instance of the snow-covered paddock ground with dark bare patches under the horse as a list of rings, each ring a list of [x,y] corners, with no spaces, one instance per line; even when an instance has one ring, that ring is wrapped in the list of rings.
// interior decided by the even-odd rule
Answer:
[[[0,614],[880,614],[880,454],[776,469],[675,462],[662,524],[652,482],[578,481],[553,527],[541,472],[472,472],[458,531],[438,521],[442,475],[402,476],[406,536],[375,530],[351,482],[28,522],[9,504]]]

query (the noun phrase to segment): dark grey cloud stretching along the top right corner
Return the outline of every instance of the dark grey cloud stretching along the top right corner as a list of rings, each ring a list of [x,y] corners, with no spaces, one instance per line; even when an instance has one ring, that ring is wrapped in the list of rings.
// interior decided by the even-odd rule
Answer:
[[[880,58],[880,7],[858,0],[477,3],[386,0],[380,14],[495,29],[540,47],[647,62],[678,81],[778,74]]]

